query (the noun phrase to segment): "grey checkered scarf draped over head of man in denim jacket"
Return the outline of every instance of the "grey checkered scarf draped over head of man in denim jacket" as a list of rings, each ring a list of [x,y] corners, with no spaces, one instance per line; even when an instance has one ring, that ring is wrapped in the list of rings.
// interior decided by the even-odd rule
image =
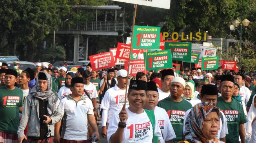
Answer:
[[[39,74],[38,74],[39,75]],[[51,75],[45,73],[47,77],[47,89],[46,91],[40,91],[39,84],[38,84],[38,75],[36,76],[36,86],[31,91],[31,95],[34,98],[40,100],[48,100],[47,104],[47,112],[50,117],[55,116],[57,114],[57,108],[60,105],[60,100],[56,97],[52,91],[52,78]]]

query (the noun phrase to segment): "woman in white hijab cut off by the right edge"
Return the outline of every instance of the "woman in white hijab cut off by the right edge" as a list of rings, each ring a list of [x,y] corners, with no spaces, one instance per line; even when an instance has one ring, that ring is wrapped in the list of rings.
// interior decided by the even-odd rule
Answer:
[[[248,122],[245,123],[245,135],[247,141],[251,141],[251,143],[256,143],[256,98],[255,95],[252,99],[251,107],[247,114]]]

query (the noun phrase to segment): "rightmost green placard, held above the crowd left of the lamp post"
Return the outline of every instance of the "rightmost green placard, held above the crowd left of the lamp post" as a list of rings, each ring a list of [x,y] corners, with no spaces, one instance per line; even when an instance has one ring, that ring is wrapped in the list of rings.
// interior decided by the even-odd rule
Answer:
[[[219,57],[203,57],[202,70],[214,70],[219,67]]]

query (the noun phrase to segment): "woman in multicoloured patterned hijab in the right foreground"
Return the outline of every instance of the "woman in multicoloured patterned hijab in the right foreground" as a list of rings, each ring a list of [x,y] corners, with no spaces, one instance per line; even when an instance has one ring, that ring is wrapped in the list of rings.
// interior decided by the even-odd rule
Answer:
[[[220,109],[201,102],[196,104],[185,123],[185,141],[189,143],[224,143],[216,138],[220,127]]]

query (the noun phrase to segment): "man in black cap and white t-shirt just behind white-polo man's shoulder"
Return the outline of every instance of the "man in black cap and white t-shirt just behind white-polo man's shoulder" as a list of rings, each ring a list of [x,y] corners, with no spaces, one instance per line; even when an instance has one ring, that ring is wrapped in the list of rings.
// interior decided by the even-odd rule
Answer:
[[[94,111],[94,115],[97,115],[97,97],[98,97],[98,93],[96,90],[96,87],[94,86],[94,84],[92,84],[90,82],[91,80],[91,72],[90,71],[84,71],[83,72],[83,80],[84,80],[84,89],[85,91],[88,93],[88,95],[90,96],[89,98],[92,100],[93,102],[93,111]],[[86,94],[85,94],[86,96]]]

